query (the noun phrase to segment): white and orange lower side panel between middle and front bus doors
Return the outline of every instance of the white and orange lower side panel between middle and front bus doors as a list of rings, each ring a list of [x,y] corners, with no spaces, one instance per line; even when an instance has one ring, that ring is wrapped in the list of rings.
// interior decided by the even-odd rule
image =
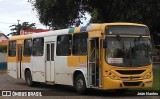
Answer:
[[[73,85],[73,73],[75,71],[81,71],[86,79],[87,64],[84,62],[85,59],[83,59],[82,57],[85,57],[85,56],[56,56],[55,57],[55,81],[57,84]],[[68,60],[72,59],[73,61],[68,62],[67,59]]]

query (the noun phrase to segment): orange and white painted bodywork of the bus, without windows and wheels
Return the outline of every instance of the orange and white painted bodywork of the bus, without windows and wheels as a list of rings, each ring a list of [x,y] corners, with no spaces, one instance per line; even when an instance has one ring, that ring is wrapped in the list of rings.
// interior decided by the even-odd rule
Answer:
[[[56,31],[48,31],[42,33],[35,33],[31,35],[23,35],[23,36],[15,36],[11,37],[10,41],[17,40],[17,45],[21,45],[22,48],[24,44],[24,39],[32,38],[44,38],[44,50],[42,56],[29,56],[25,57],[22,55],[22,72],[21,77],[25,79],[25,70],[28,68],[31,71],[33,81],[37,82],[52,82],[54,84],[63,84],[63,85],[71,85],[73,86],[74,76],[73,74],[77,71],[82,72],[86,81],[87,88],[98,88],[98,89],[123,89],[123,88],[147,88],[152,86],[153,81],[153,74],[150,78],[144,79],[147,73],[152,73],[152,66],[143,66],[143,67],[135,67],[135,68],[128,68],[128,67],[118,67],[118,66],[111,66],[108,65],[105,61],[105,49],[103,48],[103,39],[105,38],[105,29],[106,26],[111,25],[130,25],[130,26],[144,26],[142,24],[133,24],[133,23],[107,23],[107,24],[95,24],[89,25],[86,27],[86,30],[83,31],[82,28],[70,28],[70,29],[63,29],[63,30],[56,30]],[[84,28],[84,27],[83,27]],[[88,56],[84,55],[69,55],[69,56],[57,56],[57,36],[58,35],[65,35],[70,34],[74,35],[76,33],[85,32],[88,33],[88,40],[96,39],[99,44],[99,50],[97,54],[99,54],[99,62],[98,66],[99,69],[99,84],[96,86],[91,85],[90,78],[91,74],[89,75],[89,65],[88,65]],[[133,36],[133,35],[132,35]],[[95,40],[95,41],[96,41]],[[47,46],[54,44],[54,61],[47,61]],[[90,46],[87,43],[87,47]],[[53,49],[52,49],[53,50]],[[88,50],[89,51],[89,50]],[[22,51],[23,52],[23,51]],[[16,49],[16,53],[18,50]],[[91,53],[91,52],[90,52]],[[23,54],[23,53],[22,53]],[[51,54],[51,52],[50,52]],[[97,65],[97,64],[96,64]],[[15,57],[8,56],[8,74],[14,78],[18,78],[18,55],[16,54]],[[142,74],[139,75],[122,75],[117,71],[128,71],[128,70],[144,70]],[[111,76],[107,74],[107,72],[111,72],[117,78],[112,79]],[[96,73],[96,72],[95,72]],[[135,76],[140,76],[139,79],[133,79]],[[121,79],[120,77],[128,77],[127,80]],[[98,77],[97,77],[98,78]],[[48,80],[49,79],[49,80]],[[92,79],[93,80],[93,79]],[[96,81],[95,81],[96,82]],[[124,84],[129,84],[130,82],[141,82],[137,86],[125,86]]]

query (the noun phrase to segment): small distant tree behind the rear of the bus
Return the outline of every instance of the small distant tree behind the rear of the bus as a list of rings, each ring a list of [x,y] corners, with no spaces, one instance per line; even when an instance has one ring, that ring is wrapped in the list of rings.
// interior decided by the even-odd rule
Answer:
[[[11,28],[10,30],[13,31],[12,33],[10,33],[12,35],[20,35],[21,30],[36,29],[35,23],[29,24],[29,22],[23,22],[22,24],[18,24],[18,25],[11,25],[10,28]]]

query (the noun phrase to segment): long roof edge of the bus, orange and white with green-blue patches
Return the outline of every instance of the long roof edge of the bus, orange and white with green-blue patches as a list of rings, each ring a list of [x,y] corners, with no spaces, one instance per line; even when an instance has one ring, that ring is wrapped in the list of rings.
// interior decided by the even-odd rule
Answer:
[[[40,33],[34,33],[34,34],[28,34],[28,35],[21,35],[21,36],[12,36],[9,38],[9,40],[18,40],[18,39],[27,39],[27,38],[36,38],[36,37],[45,37],[45,36],[56,36],[56,35],[63,35],[63,34],[73,34],[73,33],[79,33],[79,32],[90,32],[90,31],[104,31],[106,26],[111,25],[133,25],[133,26],[144,26],[143,24],[137,24],[137,23],[127,23],[127,22],[115,22],[115,23],[99,23],[99,24],[90,24],[88,26],[82,26],[82,27],[73,27],[69,29],[61,29],[61,30],[52,30],[47,32],[40,32]]]

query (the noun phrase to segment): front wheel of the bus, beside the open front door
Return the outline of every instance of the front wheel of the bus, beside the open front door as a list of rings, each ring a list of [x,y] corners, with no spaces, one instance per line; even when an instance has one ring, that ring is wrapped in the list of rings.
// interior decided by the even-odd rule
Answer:
[[[77,93],[84,94],[86,90],[86,82],[82,74],[77,75],[74,86],[75,86]]]

